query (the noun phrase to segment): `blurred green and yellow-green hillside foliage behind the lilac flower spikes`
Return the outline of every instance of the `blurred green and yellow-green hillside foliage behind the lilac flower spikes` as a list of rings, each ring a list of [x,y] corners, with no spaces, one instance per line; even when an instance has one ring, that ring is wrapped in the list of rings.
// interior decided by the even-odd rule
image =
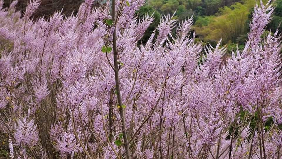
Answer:
[[[263,2],[265,4],[266,0]],[[194,16],[193,29],[197,41],[215,45],[222,38],[222,45],[227,45],[228,51],[237,44],[239,49],[243,49],[255,3],[255,0],[147,0],[137,14],[142,17],[154,13],[155,21],[141,41],[145,42],[150,37],[161,15],[176,11],[174,18]],[[276,0],[274,5],[273,19],[266,28],[271,32],[275,32],[282,22],[282,0]],[[281,26],[279,30],[281,32]]]

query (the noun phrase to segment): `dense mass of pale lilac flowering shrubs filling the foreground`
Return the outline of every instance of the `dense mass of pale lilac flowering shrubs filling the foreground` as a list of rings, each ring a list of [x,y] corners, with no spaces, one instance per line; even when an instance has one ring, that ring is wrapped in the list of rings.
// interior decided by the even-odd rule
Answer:
[[[32,19],[0,1],[0,128],[11,158],[281,158],[281,36],[256,4],[242,52],[195,43],[145,0]],[[158,19],[155,19],[158,20]],[[175,29],[176,33],[172,34]]]

